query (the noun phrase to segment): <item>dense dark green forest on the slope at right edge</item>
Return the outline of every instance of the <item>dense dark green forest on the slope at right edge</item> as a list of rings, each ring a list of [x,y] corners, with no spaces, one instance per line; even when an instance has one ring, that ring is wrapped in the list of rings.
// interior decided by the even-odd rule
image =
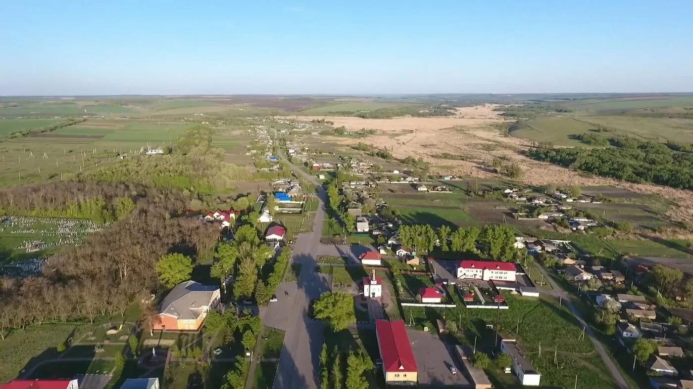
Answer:
[[[527,156],[602,177],[693,189],[693,154],[629,136],[613,136],[609,143],[614,147],[588,150],[538,145]]]

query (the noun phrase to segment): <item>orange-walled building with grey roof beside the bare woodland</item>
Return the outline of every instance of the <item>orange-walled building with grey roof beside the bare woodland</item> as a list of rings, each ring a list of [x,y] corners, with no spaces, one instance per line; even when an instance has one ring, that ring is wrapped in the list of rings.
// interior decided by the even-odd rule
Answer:
[[[152,320],[152,329],[198,331],[209,309],[219,304],[220,297],[218,285],[181,282],[159,304],[160,313]]]

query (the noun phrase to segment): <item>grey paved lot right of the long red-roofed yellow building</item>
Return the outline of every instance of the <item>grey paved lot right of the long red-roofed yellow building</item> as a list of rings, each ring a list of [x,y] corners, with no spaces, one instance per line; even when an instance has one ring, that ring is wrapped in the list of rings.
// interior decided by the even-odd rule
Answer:
[[[462,365],[453,357],[454,346],[448,345],[430,332],[407,328],[412,343],[416,367],[419,368],[419,388],[469,388],[470,382],[462,374]],[[450,367],[457,368],[457,374]]]

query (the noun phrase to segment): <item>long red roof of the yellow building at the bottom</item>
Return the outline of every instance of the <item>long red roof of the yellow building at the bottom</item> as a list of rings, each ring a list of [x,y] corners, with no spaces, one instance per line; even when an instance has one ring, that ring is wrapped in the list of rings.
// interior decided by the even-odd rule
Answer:
[[[386,372],[416,372],[416,360],[402,320],[376,320],[380,358]]]

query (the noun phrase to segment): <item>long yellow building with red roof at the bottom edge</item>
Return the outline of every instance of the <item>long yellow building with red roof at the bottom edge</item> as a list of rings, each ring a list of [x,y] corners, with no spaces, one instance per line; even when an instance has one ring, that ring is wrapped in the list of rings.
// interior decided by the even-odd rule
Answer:
[[[419,370],[402,320],[376,320],[376,339],[385,385],[416,386]]]

